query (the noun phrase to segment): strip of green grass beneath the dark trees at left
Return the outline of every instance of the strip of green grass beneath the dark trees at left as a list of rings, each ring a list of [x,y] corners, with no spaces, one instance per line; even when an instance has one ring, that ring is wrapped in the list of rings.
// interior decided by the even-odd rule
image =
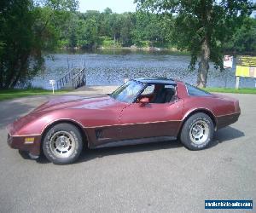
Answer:
[[[63,94],[68,90],[58,90],[55,94]],[[14,98],[21,98],[31,95],[51,95],[52,90],[48,89],[5,89],[0,90],[0,101],[9,100]]]

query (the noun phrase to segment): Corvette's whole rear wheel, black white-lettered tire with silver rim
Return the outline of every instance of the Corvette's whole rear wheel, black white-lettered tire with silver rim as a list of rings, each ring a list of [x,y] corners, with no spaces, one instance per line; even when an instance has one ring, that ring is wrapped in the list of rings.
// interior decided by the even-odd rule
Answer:
[[[213,133],[212,119],[207,114],[198,112],[183,124],[180,140],[189,150],[201,150],[209,146]]]

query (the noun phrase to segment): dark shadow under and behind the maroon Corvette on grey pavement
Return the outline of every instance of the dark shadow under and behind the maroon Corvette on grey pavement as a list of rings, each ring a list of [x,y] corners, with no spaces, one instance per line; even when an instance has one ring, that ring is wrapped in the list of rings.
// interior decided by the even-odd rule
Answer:
[[[218,130],[213,138],[211,146],[208,148],[212,148],[218,145],[218,143],[228,142],[236,138],[240,138],[244,136],[244,133],[240,130],[236,130],[233,127],[226,127],[222,130]],[[124,146],[124,147],[108,147],[108,148],[99,148],[99,149],[84,149],[81,153],[79,160],[76,164],[93,160],[95,158],[103,158],[109,155],[118,155],[125,153],[140,153],[140,152],[148,152],[160,149],[170,149],[170,148],[178,148],[183,147],[183,144],[180,141],[160,141],[154,143],[140,144],[140,145],[132,145],[132,146]],[[48,159],[44,156],[38,158],[39,164],[47,164],[49,163]]]

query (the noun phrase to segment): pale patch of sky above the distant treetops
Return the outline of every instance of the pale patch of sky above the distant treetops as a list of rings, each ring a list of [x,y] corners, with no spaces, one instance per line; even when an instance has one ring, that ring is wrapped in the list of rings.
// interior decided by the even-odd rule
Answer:
[[[136,3],[134,0],[79,0],[79,11],[86,10],[104,11],[106,8],[112,9],[113,13],[135,12]]]

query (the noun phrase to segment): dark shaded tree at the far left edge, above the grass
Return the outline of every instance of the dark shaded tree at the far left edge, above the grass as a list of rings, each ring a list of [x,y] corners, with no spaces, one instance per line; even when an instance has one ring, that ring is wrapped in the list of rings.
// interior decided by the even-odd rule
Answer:
[[[31,7],[32,2],[29,0],[9,1],[1,7],[0,37],[3,49],[0,55],[0,89],[14,87],[24,74],[27,77],[32,75],[26,61],[29,60],[32,47],[38,49],[38,43],[35,43],[32,33],[34,14]],[[32,57],[39,64],[36,52]]]

